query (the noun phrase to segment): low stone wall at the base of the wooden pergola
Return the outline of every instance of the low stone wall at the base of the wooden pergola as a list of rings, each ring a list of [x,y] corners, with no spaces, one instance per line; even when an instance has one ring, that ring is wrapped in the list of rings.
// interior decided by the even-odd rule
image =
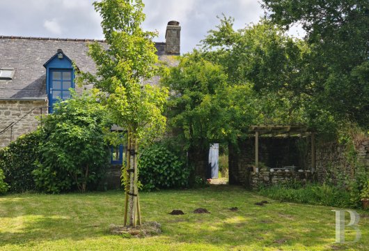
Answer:
[[[251,173],[251,187],[258,188],[260,185],[276,185],[289,181],[300,181],[306,183],[313,181],[313,173],[310,170],[299,170],[297,172],[290,170],[260,169],[259,172]]]

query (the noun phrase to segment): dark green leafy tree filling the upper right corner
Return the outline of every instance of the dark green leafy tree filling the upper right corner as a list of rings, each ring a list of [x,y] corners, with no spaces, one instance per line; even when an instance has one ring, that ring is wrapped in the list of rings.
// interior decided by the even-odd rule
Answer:
[[[335,119],[369,124],[369,3],[367,0],[263,0],[269,20],[301,24],[311,52],[301,91]]]

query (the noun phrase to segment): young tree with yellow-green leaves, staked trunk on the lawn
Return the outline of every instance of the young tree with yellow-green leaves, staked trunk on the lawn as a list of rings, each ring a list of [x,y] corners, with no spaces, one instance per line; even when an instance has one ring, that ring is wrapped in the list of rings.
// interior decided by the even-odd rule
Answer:
[[[164,131],[166,118],[162,109],[168,91],[143,84],[157,74],[158,67],[152,42],[156,33],[140,27],[145,19],[142,1],[102,0],[93,5],[102,17],[107,47],[99,43],[90,45],[88,54],[96,63],[97,72],[81,73],[79,82],[100,89],[101,100],[106,102],[113,123],[127,130],[124,223],[127,224],[129,211],[129,225],[136,227],[136,222],[141,224],[137,189],[139,144]]]

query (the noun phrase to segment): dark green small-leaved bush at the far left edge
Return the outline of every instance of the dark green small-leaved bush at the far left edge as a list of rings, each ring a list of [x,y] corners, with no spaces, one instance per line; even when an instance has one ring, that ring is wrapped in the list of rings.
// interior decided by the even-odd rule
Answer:
[[[22,135],[4,149],[0,149],[0,169],[12,192],[24,192],[36,188],[32,171],[38,158],[38,144],[44,139],[42,131]]]

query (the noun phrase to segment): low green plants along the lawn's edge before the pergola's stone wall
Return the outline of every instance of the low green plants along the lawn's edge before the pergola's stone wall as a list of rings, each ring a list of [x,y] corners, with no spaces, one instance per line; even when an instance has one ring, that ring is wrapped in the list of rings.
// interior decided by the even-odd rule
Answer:
[[[350,192],[327,184],[308,184],[305,187],[274,185],[272,187],[260,188],[260,194],[279,201],[343,208],[357,206],[352,203]]]

